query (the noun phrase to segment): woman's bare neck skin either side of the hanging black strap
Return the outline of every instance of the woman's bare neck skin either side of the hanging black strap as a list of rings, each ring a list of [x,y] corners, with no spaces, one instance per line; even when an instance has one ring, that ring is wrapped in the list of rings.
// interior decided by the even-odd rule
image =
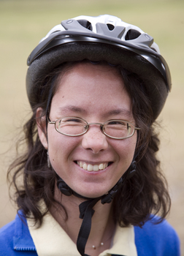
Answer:
[[[53,206],[50,209],[50,213],[76,244],[80,226],[83,221],[83,219],[79,218],[79,205],[83,203],[84,200],[74,195],[69,197],[66,195],[61,196],[61,192],[58,191],[57,188],[55,188],[55,199],[58,200],[64,208],[61,206]],[[111,206],[112,203],[102,205],[101,201],[99,201],[93,207],[95,213],[93,214],[91,233],[85,246],[85,253],[95,256],[103,252],[104,249],[110,248],[112,236],[115,232],[115,222],[112,218]],[[66,210],[67,218],[64,209]],[[96,249],[93,249],[93,246],[95,246]]]

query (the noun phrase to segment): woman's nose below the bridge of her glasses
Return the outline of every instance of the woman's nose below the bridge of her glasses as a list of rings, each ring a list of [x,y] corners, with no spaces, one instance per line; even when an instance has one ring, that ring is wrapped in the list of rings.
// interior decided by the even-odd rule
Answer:
[[[83,135],[82,146],[93,154],[98,154],[108,147],[107,137],[101,132],[99,125],[92,124],[89,127],[88,132]]]

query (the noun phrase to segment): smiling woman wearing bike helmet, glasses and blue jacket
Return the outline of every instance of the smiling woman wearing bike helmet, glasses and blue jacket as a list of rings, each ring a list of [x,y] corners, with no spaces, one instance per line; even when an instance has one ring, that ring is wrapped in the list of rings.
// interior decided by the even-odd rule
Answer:
[[[2,255],[180,255],[154,131],[171,79],[153,38],[80,16],[55,26],[28,66],[33,115],[9,167],[19,211],[1,229]]]

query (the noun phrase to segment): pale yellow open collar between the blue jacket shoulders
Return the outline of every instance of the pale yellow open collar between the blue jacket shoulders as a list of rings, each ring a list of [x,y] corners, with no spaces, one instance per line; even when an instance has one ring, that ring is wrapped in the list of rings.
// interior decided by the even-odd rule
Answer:
[[[38,229],[31,219],[28,219],[27,222],[39,256],[80,256],[76,244],[55,221],[50,212],[45,215],[42,226]],[[112,247],[101,252],[99,256],[110,255],[137,256],[134,243],[134,227],[116,227]]]

